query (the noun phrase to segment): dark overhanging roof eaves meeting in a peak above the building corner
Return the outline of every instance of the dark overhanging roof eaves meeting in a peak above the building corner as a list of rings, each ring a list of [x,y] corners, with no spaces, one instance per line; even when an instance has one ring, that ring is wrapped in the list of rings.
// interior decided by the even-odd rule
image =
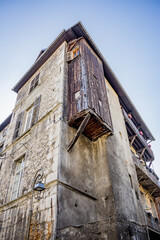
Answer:
[[[107,78],[108,82],[111,84],[115,92],[118,94],[119,99],[123,107],[125,107],[126,111],[132,112],[132,116],[137,121],[137,124],[141,126],[143,132],[147,139],[155,140],[149,128],[146,126],[145,122],[139,115],[132,101],[128,97],[127,93],[121,86],[115,74],[112,72],[105,58],[95,45],[92,38],[87,33],[86,29],[82,25],[81,22],[78,22],[76,25],[71,27],[68,30],[63,30],[61,34],[51,43],[51,45],[46,49],[46,51],[37,59],[37,61],[32,65],[32,67],[27,71],[27,73],[19,80],[19,82],[13,87],[13,91],[18,93],[19,89],[32,77],[32,75],[45,63],[45,61],[56,51],[56,49],[64,42],[69,42],[75,38],[84,37],[88,44],[92,47],[95,53],[99,56],[99,58],[103,62],[104,74]]]

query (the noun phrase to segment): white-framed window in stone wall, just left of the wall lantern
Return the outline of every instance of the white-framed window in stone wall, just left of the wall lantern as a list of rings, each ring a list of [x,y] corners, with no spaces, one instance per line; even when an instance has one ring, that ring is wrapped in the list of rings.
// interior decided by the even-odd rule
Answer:
[[[16,162],[16,169],[15,169],[14,181],[13,181],[13,186],[12,186],[11,200],[14,200],[18,197],[23,168],[24,168],[24,156],[21,157]]]

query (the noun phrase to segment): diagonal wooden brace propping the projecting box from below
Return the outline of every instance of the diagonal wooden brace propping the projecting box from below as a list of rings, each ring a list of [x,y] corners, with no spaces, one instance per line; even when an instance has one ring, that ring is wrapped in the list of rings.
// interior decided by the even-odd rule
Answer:
[[[70,152],[70,150],[72,149],[72,147],[74,146],[74,144],[77,142],[80,134],[84,131],[87,123],[89,122],[90,120],[90,117],[91,117],[91,114],[88,113],[85,118],[83,119],[82,123],[80,124],[77,132],[76,132],[76,135],[75,137],[72,139],[72,141],[70,142],[70,144],[68,145],[68,148],[67,148],[67,151]]]

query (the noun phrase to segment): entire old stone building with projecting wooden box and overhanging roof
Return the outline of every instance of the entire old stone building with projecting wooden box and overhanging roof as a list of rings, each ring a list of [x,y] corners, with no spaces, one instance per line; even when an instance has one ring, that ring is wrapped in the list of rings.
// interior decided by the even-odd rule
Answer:
[[[154,137],[83,25],[13,91],[0,125],[0,239],[160,239]]]

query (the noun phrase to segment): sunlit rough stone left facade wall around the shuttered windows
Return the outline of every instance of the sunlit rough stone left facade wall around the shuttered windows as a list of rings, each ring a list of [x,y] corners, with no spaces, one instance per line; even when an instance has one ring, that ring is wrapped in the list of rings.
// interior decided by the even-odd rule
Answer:
[[[46,63],[18,92],[18,101],[5,141],[6,158],[1,168],[1,217],[0,239],[22,240],[27,238],[29,212],[32,208],[31,235],[37,226],[36,239],[54,238],[57,211],[57,166],[60,146],[60,127],[63,102],[63,82],[66,44],[63,43]],[[32,79],[40,73],[39,85],[29,93]],[[38,122],[25,132],[26,110],[41,95]],[[24,111],[21,132],[12,142],[19,113]],[[11,201],[16,161],[24,155],[18,198]],[[40,195],[32,187],[37,170],[44,169],[46,190]],[[37,224],[37,225],[36,225]],[[35,232],[36,232],[35,231]],[[40,235],[41,234],[41,235]]]

